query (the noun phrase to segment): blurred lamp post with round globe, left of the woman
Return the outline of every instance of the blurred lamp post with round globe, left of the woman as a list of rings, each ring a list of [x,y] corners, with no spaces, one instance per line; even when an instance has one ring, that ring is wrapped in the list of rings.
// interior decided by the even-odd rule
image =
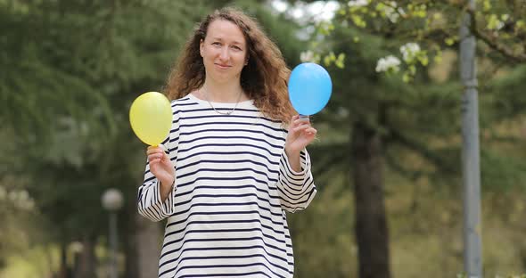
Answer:
[[[122,193],[115,188],[110,188],[103,193],[103,208],[110,214],[110,278],[118,278],[117,273],[117,211],[122,208],[124,199]]]

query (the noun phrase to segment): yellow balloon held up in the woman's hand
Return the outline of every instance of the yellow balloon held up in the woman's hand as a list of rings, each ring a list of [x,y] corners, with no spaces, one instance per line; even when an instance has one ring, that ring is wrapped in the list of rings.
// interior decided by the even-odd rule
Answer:
[[[139,95],[129,109],[129,123],[137,137],[152,146],[168,137],[172,127],[172,109],[164,94]]]

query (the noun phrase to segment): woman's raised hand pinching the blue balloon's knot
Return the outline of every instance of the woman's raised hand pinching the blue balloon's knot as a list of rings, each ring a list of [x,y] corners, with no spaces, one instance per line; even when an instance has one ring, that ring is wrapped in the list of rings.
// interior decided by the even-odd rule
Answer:
[[[300,155],[300,151],[314,140],[316,133],[317,130],[310,126],[308,118],[300,119],[299,115],[292,117],[289,134],[285,141],[287,155]]]

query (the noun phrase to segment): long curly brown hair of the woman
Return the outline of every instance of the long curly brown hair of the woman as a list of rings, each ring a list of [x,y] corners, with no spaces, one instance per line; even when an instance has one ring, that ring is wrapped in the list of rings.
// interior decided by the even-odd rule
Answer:
[[[168,98],[182,98],[204,84],[206,74],[199,46],[214,20],[233,22],[242,30],[247,41],[249,61],[241,72],[241,86],[245,94],[263,115],[288,123],[296,113],[287,89],[291,70],[277,45],[267,37],[258,22],[234,8],[212,12],[194,30],[168,76],[165,88]]]

